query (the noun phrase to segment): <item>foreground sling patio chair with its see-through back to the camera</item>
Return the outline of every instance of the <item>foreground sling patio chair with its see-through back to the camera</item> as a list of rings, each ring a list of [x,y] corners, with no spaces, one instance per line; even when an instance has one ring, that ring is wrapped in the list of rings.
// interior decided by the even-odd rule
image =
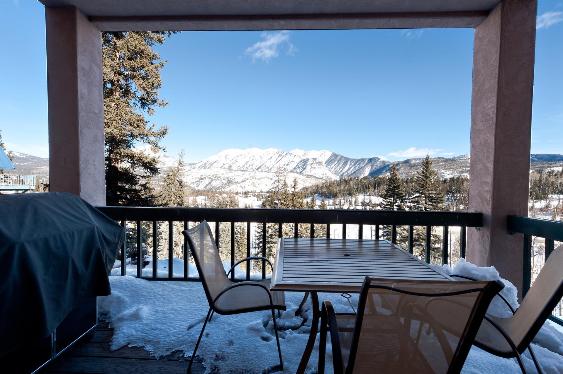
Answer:
[[[365,277],[354,313],[321,310],[319,374],[327,332],[334,373],[459,373],[500,281]]]

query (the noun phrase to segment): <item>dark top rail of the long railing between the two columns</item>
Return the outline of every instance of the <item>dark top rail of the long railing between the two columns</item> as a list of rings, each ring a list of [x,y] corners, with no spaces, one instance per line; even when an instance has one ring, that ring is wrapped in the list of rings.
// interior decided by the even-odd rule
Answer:
[[[479,212],[99,206],[114,220],[482,226]]]

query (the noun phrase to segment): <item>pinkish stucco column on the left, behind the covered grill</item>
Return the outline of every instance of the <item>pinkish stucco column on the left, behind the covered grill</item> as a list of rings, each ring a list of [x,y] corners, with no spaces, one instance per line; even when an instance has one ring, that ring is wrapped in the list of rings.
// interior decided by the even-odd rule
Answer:
[[[45,16],[50,190],[105,205],[101,31],[75,7]]]

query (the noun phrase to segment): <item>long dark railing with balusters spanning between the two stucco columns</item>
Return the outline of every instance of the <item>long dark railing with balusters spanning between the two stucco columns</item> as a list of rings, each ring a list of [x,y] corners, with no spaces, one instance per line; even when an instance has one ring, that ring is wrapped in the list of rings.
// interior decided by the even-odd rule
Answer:
[[[293,236],[298,236],[298,224],[310,225],[310,236],[314,236],[315,224],[326,225],[326,237],[330,237],[330,225],[342,224],[342,237],[346,238],[348,225],[358,226],[358,237],[363,237],[363,225],[375,227],[374,237],[380,237],[382,226],[390,227],[390,241],[397,242],[397,227],[408,226],[408,239],[406,250],[413,252],[414,227],[426,227],[425,260],[430,263],[431,228],[443,227],[442,262],[448,262],[448,233],[449,227],[461,227],[460,231],[460,256],[465,257],[467,227],[482,226],[482,214],[476,212],[450,212],[450,211],[385,211],[385,210],[320,210],[320,209],[243,209],[243,208],[133,208],[103,206],[98,208],[102,213],[127,227],[127,222],[136,222],[136,275],[146,280],[164,281],[199,281],[199,278],[189,277],[189,250],[184,240],[184,276],[173,276],[173,223],[182,222],[187,229],[189,222],[215,222],[215,240],[220,243],[220,223],[231,224],[230,263],[235,263],[235,223],[246,223],[247,256],[251,253],[251,223],[278,224],[278,237],[282,237],[282,224],[294,224]],[[152,223],[153,237],[153,271],[151,276],[142,276],[142,222]],[[158,222],[168,222],[168,276],[158,277],[157,269],[157,241]],[[262,230],[262,255],[266,253],[266,230]],[[127,242],[127,240],[126,240]],[[121,258],[121,274],[126,274],[127,248],[124,243]],[[231,275],[234,280],[234,274]],[[266,277],[265,266],[262,265],[262,278]],[[247,266],[247,279],[250,278],[250,267]]]

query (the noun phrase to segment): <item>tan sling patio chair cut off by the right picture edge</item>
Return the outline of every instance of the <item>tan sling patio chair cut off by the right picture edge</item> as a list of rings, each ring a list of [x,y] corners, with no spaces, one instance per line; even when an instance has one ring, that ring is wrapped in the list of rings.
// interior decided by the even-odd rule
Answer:
[[[563,267],[563,246],[549,255],[542,271],[522,300],[520,308],[514,310],[508,300],[501,294],[498,295],[512,312],[512,317],[499,318],[486,314],[473,344],[499,357],[516,358],[522,373],[526,373],[526,369],[520,355],[528,349],[536,370],[542,373],[530,343],[559,300],[563,298],[561,267]],[[475,280],[459,274],[451,274],[450,277]]]

